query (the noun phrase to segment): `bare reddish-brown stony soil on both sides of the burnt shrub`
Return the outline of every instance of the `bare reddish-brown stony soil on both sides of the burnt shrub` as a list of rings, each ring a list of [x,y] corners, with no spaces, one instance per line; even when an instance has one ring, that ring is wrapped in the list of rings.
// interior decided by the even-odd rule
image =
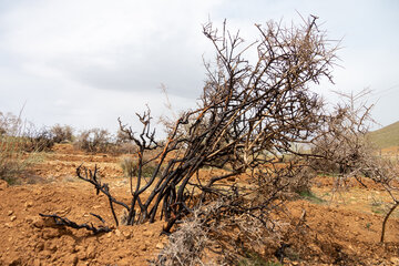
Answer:
[[[99,226],[90,215],[95,213],[112,226],[105,196],[96,196],[93,187],[75,177],[81,163],[96,164],[112,193],[125,202],[130,198],[121,156],[85,154],[62,144],[43,157],[25,184],[0,183],[0,265],[147,265],[165,245],[166,236],[160,236],[162,222],[93,235],[41,218],[39,213],[57,213]],[[284,239],[296,254],[285,265],[399,265],[399,215],[393,213],[389,219],[386,243],[380,244],[389,196],[372,183],[366,185],[349,182],[347,190],[335,192],[331,177],[318,177],[313,197],[289,202],[289,216],[294,222],[304,217],[305,234]]]

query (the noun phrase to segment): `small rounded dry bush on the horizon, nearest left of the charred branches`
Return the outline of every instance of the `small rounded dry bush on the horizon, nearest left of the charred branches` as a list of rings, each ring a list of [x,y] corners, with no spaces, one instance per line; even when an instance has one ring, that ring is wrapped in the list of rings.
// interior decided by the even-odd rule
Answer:
[[[102,129],[92,129],[81,132],[73,144],[76,149],[92,153],[109,152],[114,145],[110,132]]]

